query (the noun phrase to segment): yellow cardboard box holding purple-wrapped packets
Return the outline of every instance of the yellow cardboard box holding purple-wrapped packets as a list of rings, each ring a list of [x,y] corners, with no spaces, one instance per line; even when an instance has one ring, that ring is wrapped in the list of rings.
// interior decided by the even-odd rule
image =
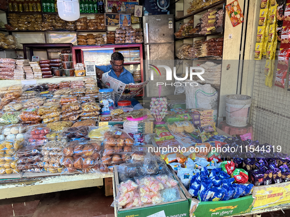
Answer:
[[[253,211],[290,203],[290,182],[254,186],[253,196],[256,197]]]

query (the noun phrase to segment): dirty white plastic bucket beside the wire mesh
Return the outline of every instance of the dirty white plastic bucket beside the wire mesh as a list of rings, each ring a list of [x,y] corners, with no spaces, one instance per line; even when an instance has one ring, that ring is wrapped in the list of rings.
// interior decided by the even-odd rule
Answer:
[[[226,96],[226,123],[231,126],[248,124],[252,97],[246,95]]]

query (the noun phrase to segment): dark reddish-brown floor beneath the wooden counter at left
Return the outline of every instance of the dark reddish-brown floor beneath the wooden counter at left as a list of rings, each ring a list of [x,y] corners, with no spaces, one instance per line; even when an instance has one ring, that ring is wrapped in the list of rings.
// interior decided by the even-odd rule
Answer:
[[[113,217],[104,186],[0,200],[0,217]]]

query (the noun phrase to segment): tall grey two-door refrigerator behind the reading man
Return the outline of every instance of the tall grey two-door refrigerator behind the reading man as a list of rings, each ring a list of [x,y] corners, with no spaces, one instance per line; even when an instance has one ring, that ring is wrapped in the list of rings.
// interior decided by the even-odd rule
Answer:
[[[146,80],[150,82],[145,88],[146,96],[158,96],[159,85],[157,82],[164,83],[161,85],[161,96],[174,95],[175,87],[167,83],[174,83],[174,15],[152,15],[143,16],[144,32],[144,52],[145,64],[144,72]],[[166,65],[172,71],[172,81],[166,81],[166,70],[158,65]],[[152,68],[158,68],[152,80]],[[156,68],[155,68],[156,69]],[[166,86],[165,86],[166,83]]]

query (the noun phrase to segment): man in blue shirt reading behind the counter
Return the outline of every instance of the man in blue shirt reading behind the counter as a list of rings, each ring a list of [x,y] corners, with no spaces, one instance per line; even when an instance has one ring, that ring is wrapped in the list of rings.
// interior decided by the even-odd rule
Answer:
[[[109,72],[109,76],[123,82],[124,84],[135,83],[131,72],[124,68],[124,56],[122,53],[114,52],[111,55],[109,66],[96,66],[96,73],[99,80],[102,80],[102,76],[105,72]],[[134,110],[142,109],[143,106],[135,98],[130,99]]]

